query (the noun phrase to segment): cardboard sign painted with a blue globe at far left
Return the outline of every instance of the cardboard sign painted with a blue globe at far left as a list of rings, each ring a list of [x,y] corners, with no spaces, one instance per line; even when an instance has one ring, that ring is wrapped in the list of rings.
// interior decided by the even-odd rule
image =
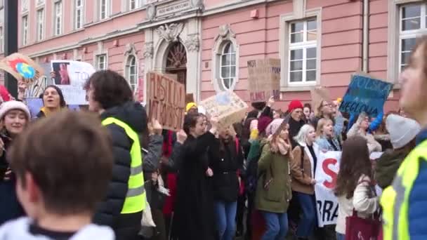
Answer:
[[[44,74],[43,69],[31,58],[21,53],[13,53],[0,61],[0,69],[12,74],[18,81],[32,83]]]

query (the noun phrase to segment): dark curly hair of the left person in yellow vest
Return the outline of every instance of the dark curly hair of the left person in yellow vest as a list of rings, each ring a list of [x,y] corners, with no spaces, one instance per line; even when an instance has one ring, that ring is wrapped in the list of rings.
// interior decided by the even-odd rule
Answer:
[[[109,109],[133,101],[129,83],[123,76],[111,70],[98,71],[86,81],[84,89],[93,89],[93,98],[103,109]]]

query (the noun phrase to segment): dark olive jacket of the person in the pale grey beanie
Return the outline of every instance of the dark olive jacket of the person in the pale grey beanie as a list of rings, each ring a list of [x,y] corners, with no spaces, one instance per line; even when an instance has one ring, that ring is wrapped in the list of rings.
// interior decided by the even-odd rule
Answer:
[[[400,164],[409,152],[408,149],[388,149],[376,160],[375,180],[382,189],[391,185]]]

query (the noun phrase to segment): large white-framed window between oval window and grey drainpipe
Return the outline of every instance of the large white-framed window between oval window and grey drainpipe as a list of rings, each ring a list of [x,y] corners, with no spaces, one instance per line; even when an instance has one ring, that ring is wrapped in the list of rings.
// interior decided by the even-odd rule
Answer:
[[[313,83],[317,71],[317,20],[291,22],[289,27],[289,84]]]

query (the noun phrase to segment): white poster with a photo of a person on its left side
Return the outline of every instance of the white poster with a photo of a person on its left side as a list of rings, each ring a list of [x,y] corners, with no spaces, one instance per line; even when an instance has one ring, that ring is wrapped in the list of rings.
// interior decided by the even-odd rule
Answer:
[[[63,91],[67,105],[87,105],[84,84],[96,72],[87,62],[54,60],[51,61],[54,72],[53,81]]]

